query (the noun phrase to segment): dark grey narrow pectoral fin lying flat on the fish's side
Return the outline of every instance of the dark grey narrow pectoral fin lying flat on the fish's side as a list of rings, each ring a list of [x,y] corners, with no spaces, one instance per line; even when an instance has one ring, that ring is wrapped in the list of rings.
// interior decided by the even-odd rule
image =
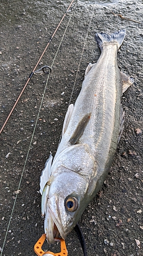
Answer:
[[[91,118],[91,113],[85,114],[82,119],[78,122],[76,129],[72,135],[72,137],[69,140],[69,143],[71,145],[76,144],[77,140],[81,137],[82,133],[85,130],[85,127],[87,126],[89,120]]]

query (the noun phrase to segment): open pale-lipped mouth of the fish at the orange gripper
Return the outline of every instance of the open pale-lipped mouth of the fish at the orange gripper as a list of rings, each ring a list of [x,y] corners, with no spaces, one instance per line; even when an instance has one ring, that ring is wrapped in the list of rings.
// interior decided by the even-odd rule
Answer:
[[[49,244],[54,244],[54,238],[58,238],[59,235],[65,240],[66,236],[61,228],[60,221],[57,220],[50,208],[45,213],[45,233],[46,239]]]

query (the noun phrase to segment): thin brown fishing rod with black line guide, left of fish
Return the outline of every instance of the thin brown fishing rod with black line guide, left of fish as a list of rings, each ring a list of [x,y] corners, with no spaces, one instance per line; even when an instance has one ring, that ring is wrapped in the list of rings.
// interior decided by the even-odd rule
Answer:
[[[74,10],[73,7],[71,8],[73,2],[74,2],[74,0],[71,1],[71,3],[70,3],[70,5],[69,5],[68,9],[66,10],[66,12],[65,12],[65,14],[63,15],[62,19],[60,20],[60,23],[58,24],[58,26],[57,26],[56,29],[54,30],[52,36],[50,37],[50,39],[49,39],[49,41],[48,41],[48,44],[46,45],[46,47],[45,47],[43,53],[41,54],[39,60],[37,61],[36,66],[34,67],[33,71],[31,72],[30,76],[28,77],[28,79],[27,79],[27,81],[26,81],[26,83],[25,83],[25,85],[24,85],[24,87],[23,87],[21,93],[19,94],[17,100],[15,101],[15,103],[14,103],[14,105],[13,105],[12,110],[10,111],[10,113],[9,113],[9,115],[8,115],[8,117],[7,117],[7,119],[6,119],[6,121],[4,122],[4,124],[3,124],[3,126],[2,126],[2,129],[1,129],[1,131],[0,131],[0,135],[1,135],[2,131],[4,130],[4,127],[6,126],[6,124],[7,124],[8,120],[9,120],[11,114],[13,113],[13,111],[14,111],[14,109],[15,109],[15,106],[17,105],[17,103],[18,103],[18,101],[19,101],[19,99],[20,99],[22,93],[24,92],[24,90],[25,90],[25,88],[26,88],[28,82],[29,82],[30,79],[32,78],[33,74],[39,71],[39,70],[36,71],[36,68],[37,68],[37,66],[39,65],[39,62],[40,62],[40,60],[42,59],[44,53],[46,52],[46,50],[47,50],[47,48],[48,48],[48,46],[49,46],[49,44],[50,44],[52,38],[54,37],[56,31],[59,29],[61,23],[63,22],[63,19],[65,18],[67,12],[69,12],[70,9],[71,9],[71,11]],[[41,68],[44,73],[48,73],[48,72],[45,70],[45,68],[48,68],[48,69],[49,69],[49,72],[51,72],[51,68],[50,68],[50,67],[44,66],[44,67]],[[41,69],[40,69],[40,70],[41,70]]]

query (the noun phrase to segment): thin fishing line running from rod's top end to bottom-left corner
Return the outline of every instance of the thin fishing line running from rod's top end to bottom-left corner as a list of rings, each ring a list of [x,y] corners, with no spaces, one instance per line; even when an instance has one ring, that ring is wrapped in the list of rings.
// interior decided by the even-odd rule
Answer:
[[[72,1],[72,2],[73,2],[73,1]],[[54,63],[54,61],[55,61],[55,58],[56,58],[56,56],[57,56],[57,54],[58,54],[58,52],[59,52],[60,46],[61,46],[62,41],[63,41],[63,39],[64,39],[64,36],[65,36],[65,34],[66,34],[66,31],[67,31],[67,28],[68,28],[68,26],[69,26],[70,20],[71,20],[71,18],[72,18],[72,15],[73,15],[73,12],[72,12],[71,15],[70,15],[70,18],[69,18],[69,20],[68,20],[68,24],[67,24],[67,26],[66,26],[66,29],[65,29],[65,31],[64,31],[64,34],[63,34],[62,39],[61,39],[61,41],[60,41],[58,50],[56,51],[55,56],[54,56],[54,58],[53,58],[53,61],[52,61],[52,64],[51,64],[51,68],[52,68],[53,63]],[[45,88],[44,88],[42,100],[41,100],[41,103],[40,103],[40,108],[39,108],[38,115],[37,115],[37,119],[36,119],[35,126],[34,126],[34,131],[33,131],[33,134],[32,134],[31,141],[30,141],[30,145],[29,145],[29,147],[28,147],[26,159],[25,159],[25,162],[24,162],[24,166],[23,166],[23,170],[22,170],[22,174],[21,174],[21,178],[20,178],[20,181],[19,181],[19,185],[18,185],[18,189],[17,189],[17,190],[19,190],[20,185],[21,185],[21,181],[22,181],[22,177],[23,177],[25,165],[26,165],[26,162],[27,162],[28,154],[29,154],[30,149],[31,149],[33,137],[34,137],[35,130],[36,130],[36,127],[37,127],[37,122],[38,122],[39,115],[40,115],[40,111],[41,111],[41,108],[42,108],[42,104],[43,104],[43,100],[44,100],[45,91],[46,91],[46,88],[47,88],[49,76],[50,76],[50,72],[48,73],[48,77],[47,77],[47,80],[46,80],[46,84],[45,84]],[[5,239],[4,239],[4,243],[3,243],[3,247],[2,247],[2,251],[1,251],[1,256],[2,256],[2,254],[3,254],[4,246],[5,246],[5,243],[6,243],[6,238],[7,238],[8,230],[9,230],[9,227],[10,227],[11,219],[12,219],[12,216],[13,216],[13,211],[14,211],[14,207],[15,207],[15,204],[16,204],[17,196],[18,196],[18,194],[16,194],[16,197],[15,197],[15,200],[14,200],[14,204],[13,204],[13,208],[12,208],[12,212],[11,212],[9,224],[8,224],[8,227],[7,227],[7,231],[6,231],[6,235],[5,235]]]

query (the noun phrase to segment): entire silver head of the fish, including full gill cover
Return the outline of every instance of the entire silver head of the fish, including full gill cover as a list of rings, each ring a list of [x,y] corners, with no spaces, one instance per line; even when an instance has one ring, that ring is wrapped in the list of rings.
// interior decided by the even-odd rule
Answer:
[[[96,164],[87,144],[68,147],[55,157],[51,167],[45,202],[45,233],[54,243],[60,233],[63,239],[74,228],[85,207],[91,201],[91,181],[96,176]]]

